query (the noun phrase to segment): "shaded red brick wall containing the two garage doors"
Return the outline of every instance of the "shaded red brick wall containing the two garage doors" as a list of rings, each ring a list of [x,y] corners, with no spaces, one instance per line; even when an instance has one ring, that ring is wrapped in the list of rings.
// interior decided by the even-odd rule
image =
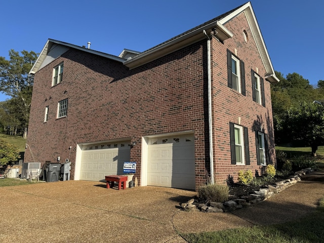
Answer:
[[[138,162],[141,138],[194,131],[196,183],[205,183],[204,112],[206,42],[129,70],[123,64],[70,50],[35,73],[25,162],[69,157],[74,175],[76,144],[131,138]],[[63,81],[51,87],[53,67],[64,62]],[[206,66],[206,65],[205,65]],[[68,98],[67,116],[56,119],[57,103]],[[49,119],[44,123],[45,107]],[[69,146],[72,147],[69,150]],[[209,165],[209,161],[207,162]],[[73,176],[72,176],[73,179]]]

